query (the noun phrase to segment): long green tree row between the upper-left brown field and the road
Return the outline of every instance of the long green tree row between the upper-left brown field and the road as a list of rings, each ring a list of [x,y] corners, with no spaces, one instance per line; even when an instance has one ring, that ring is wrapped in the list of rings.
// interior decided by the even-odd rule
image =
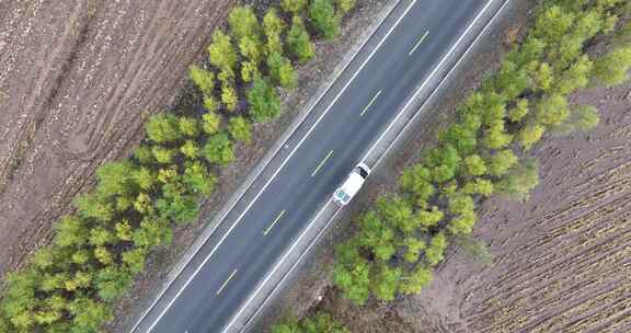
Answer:
[[[280,114],[278,90],[297,85],[296,66],[316,56],[312,41],[335,39],[354,4],[283,0],[264,13],[232,9],[228,27],[213,33],[208,61],[188,72],[204,111],[151,116],[133,157],[99,168],[96,187],[74,199],[76,214],[56,223],[51,244],[7,275],[0,332],[99,332],[150,251],[197,219],[216,174],[236,159],[234,146],[250,143],[254,124]],[[328,322],[319,317],[300,326]]]

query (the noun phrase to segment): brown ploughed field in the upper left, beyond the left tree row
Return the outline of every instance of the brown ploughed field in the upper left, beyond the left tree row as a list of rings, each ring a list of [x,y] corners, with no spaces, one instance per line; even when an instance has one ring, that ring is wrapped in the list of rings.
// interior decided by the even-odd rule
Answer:
[[[0,276],[173,103],[233,2],[0,1]]]

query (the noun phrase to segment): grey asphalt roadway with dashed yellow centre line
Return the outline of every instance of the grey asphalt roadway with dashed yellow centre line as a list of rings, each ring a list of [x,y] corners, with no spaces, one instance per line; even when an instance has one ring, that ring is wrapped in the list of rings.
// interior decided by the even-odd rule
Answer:
[[[492,0],[420,0],[176,292],[136,332],[222,332],[401,106]],[[321,103],[322,104],[322,103]]]

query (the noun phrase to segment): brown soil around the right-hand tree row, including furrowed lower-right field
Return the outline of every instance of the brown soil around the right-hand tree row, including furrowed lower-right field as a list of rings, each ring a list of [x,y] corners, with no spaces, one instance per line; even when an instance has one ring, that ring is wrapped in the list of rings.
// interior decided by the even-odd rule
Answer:
[[[515,38],[531,7],[523,2],[512,10],[490,38],[495,43],[483,46],[471,61],[475,67],[458,76],[454,93],[427,117],[452,114],[481,73],[496,66],[505,51],[498,42]],[[278,300],[277,313],[324,310],[362,333],[631,332],[631,82],[581,92],[573,102],[597,106],[600,125],[589,134],[548,137],[532,149],[541,184],[529,202],[493,198],[482,205],[473,237],[489,244],[490,264],[450,246],[421,295],[353,307],[330,282],[332,249],[347,233],[340,228]],[[445,124],[448,117],[438,118]],[[382,168],[379,185],[337,225],[348,226],[378,193],[395,188],[401,169],[434,134],[420,128],[409,138]]]

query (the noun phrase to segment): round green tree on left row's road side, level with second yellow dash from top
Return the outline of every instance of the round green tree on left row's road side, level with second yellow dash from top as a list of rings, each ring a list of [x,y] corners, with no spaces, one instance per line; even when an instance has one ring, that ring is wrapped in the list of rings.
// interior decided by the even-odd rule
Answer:
[[[268,122],[280,113],[280,97],[265,79],[255,78],[245,95],[255,122]]]

